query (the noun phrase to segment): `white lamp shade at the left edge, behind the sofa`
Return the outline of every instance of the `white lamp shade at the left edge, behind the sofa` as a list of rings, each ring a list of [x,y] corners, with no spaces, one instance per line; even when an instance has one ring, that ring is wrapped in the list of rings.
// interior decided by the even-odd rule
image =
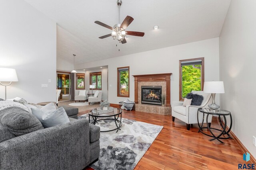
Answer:
[[[18,82],[16,70],[14,68],[0,68],[1,82]]]

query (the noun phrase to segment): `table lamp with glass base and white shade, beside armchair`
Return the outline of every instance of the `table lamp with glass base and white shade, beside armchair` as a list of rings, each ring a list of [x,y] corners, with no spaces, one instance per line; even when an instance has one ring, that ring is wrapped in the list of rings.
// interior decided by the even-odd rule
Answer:
[[[208,105],[210,111],[219,111],[220,106],[215,104],[215,94],[216,93],[225,93],[223,82],[211,81],[204,82],[204,93],[212,94],[212,104]]]

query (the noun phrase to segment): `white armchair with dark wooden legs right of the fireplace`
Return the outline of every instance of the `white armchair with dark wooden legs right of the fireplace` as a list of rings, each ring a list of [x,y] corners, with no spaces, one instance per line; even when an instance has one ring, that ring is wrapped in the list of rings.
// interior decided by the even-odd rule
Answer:
[[[194,94],[204,96],[204,100],[201,106],[182,106],[183,102],[172,102],[172,121],[180,119],[187,124],[187,130],[190,130],[190,124],[197,122],[197,110],[198,108],[208,108],[208,105],[212,103],[212,94],[204,93],[203,91],[192,91]],[[203,120],[203,114],[198,115],[198,120],[201,123]],[[209,127],[212,122],[212,115],[208,117]],[[204,119],[206,123],[206,119]]]

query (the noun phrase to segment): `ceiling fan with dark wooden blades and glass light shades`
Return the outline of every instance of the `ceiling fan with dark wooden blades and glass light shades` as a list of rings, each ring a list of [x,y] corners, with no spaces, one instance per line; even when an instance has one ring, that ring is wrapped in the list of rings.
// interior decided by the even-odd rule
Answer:
[[[122,5],[122,0],[117,0],[117,5],[119,6],[119,22],[114,25],[114,27],[110,27],[109,25],[106,25],[105,23],[102,23],[100,21],[95,21],[94,23],[97,23],[98,25],[101,25],[103,27],[106,27],[108,29],[112,30],[111,34],[103,35],[99,37],[100,39],[104,39],[106,37],[112,37],[113,39],[117,39],[119,43],[126,43],[126,35],[133,35],[138,37],[143,37],[145,33],[142,32],[136,32],[136,31],[126,31],[125,29],[132,23],[134,20],[130,16],[126,16],[122,24],[120,24],[120,6]]]

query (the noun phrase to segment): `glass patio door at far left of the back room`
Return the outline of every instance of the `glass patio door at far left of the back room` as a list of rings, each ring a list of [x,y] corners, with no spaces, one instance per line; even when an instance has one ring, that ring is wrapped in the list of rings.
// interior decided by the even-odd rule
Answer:
[[[57,89],[60,89],[59,101],[70,100],[70,74],[57,72]]]

